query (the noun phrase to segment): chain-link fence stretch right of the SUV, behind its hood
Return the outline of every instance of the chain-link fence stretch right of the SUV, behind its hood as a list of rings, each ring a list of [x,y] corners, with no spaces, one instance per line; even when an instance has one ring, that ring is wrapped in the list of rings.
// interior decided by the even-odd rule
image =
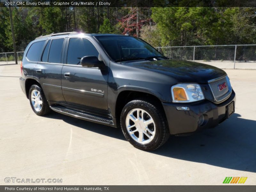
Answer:
[[[256,69],[256,44],[156,47],[166,57],[219,68]]]

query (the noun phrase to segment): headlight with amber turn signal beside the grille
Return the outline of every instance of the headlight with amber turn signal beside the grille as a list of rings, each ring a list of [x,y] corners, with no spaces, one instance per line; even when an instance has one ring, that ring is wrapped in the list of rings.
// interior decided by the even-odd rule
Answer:
[[[199,84],[177,84],[173,85],[172,101],[173,102],[194,102],[204,100],[204,94]]]

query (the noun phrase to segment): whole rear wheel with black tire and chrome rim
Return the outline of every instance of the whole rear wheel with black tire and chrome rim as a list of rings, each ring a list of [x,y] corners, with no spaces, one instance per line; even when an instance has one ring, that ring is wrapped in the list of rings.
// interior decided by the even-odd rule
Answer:
[[[44,92],[38,85],[31,85],[28,93],[30,106],[38,116],[44,116],[50,113],[51,109],[44,96]]]

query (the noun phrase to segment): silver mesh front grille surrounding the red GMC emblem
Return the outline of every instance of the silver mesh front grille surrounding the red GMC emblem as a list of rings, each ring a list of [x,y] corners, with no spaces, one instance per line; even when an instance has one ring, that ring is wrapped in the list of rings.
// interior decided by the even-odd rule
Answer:
[[[220,85],[224,83],[226,83],[227,88],[220,90]],[[216,101],[222,101],[226,99],[232,92],[232,87],[228,76],[209,81],[209,85],[212,90],[213,97]]]

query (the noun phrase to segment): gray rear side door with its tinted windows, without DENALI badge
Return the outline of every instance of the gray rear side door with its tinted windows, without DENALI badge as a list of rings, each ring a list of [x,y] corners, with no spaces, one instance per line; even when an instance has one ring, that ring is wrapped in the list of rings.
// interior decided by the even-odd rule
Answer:
[[[61,90],[64,40],[64,38],[49,39],[35,67],[35,77],[43,87],[48,101],[65,102]]]

